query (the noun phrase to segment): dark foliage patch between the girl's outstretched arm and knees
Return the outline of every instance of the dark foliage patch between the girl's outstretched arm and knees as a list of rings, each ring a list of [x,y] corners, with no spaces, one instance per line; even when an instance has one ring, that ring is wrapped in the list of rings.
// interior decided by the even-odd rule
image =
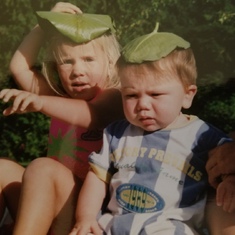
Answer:
[[[46,156],[48,119],[42,114],[12,115],[0,118],[1,156],[29,162]]]

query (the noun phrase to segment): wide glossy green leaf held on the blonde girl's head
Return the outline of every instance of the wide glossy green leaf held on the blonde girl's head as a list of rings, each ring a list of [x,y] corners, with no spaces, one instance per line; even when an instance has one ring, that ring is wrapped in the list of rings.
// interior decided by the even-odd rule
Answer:
[[[79,44],[115,32],[114,22],[108,15],[37,11],[36,16],[46,33],[59,32]]]

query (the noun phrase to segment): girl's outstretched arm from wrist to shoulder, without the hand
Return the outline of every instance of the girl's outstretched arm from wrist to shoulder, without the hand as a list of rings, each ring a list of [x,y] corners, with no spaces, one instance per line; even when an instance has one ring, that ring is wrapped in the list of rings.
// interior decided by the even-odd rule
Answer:
[[[41,96],[41,99],[40,112],[88,129],[103,129],[124,117],[120,92],[116,89],[104,91],[93,102],[58,96]]]

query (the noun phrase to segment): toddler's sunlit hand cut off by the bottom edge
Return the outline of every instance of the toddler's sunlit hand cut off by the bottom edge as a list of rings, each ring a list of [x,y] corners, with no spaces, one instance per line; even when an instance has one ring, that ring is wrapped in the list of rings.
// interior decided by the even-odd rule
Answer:
[[[96,219],[83,219],[82,221],[75,224],[73,230],[69,235],[102,235],[102,230],[98,225]]]

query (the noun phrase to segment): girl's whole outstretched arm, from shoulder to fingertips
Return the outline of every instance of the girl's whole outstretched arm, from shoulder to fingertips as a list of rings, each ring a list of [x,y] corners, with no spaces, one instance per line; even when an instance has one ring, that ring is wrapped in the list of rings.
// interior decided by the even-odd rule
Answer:
[[[4,102],[13,100],[12,106],[4,110],[4,115],[24,112],[42,112],[84,128],[104,128],[124,117],[120,91],[104,90],[95,101],[86,102],[56,96],[38,96],[17,89],[0,92]]]

